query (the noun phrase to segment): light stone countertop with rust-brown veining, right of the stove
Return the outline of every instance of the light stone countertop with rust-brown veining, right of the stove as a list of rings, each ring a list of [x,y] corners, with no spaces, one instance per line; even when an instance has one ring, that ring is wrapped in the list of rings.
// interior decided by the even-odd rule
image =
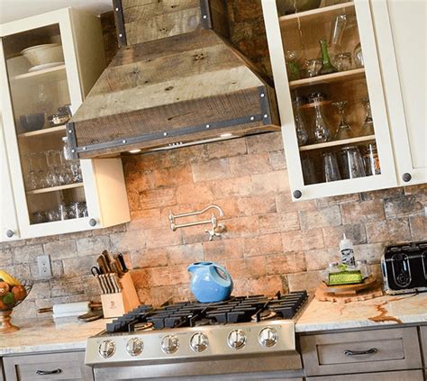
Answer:
[[[331,331],[403,323],[427,324],[427,293],[382,296],[338,304],[313,299],[295,324],[296,332]]]

